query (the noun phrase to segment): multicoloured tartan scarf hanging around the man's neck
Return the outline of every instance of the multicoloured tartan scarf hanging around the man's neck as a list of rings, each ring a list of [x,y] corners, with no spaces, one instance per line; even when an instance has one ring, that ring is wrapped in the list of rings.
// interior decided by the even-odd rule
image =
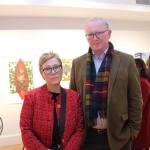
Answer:
[[[113,45],[109,45],[109,49],[102,61],[98,73],[96,74],[92,50],[89,48],[87,54],[85,87],[85,109],[86,116],[89,119],[96,119],[98,117],[98,112],[101,117],[107,117],[108,78],[113,50]]]

